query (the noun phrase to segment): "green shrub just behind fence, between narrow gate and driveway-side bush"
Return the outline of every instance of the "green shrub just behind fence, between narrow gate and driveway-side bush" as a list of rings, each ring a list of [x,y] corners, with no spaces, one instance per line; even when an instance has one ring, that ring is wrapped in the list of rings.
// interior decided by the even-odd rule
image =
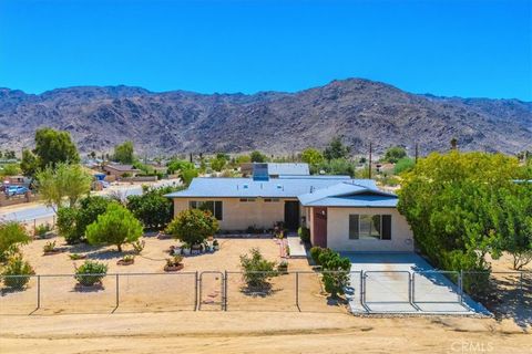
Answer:
[[[257,248],[249,250],[248,254],[241,256],[243,278],[248,287],[264,287],[268,279],[276,277],[275,262],[266,260]]]

